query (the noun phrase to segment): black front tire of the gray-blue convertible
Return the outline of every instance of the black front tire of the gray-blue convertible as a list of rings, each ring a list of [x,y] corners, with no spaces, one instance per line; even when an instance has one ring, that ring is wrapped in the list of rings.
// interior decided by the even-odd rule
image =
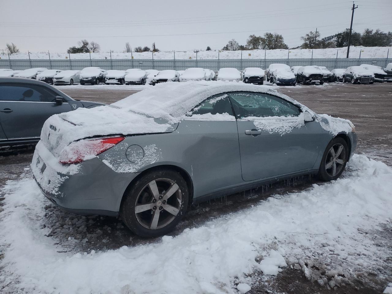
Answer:
[[[339,147],[342,146],[343,149],[338,154],[338,158],[334,160],[330,150],[334,148],[334,154],[339,152]],[[339,176],[344,171],[347,160],[348,160],[348,146],[346,141],[341,137],[334,138],[328,143],[327,148],[325,148],[323,158],[321,159],[321,164],[318,172],[318,177],[323,181],[332,181],[339,178]],[[339,160],[339,162],[338,162]],[[342,162],[343,160],[343,162]],[[332,163],[332,166],[328,168],[328,163]],[[335,175],[333,175],[333,165],[335,165]],[[329,172],[328,172],[329,171]]]

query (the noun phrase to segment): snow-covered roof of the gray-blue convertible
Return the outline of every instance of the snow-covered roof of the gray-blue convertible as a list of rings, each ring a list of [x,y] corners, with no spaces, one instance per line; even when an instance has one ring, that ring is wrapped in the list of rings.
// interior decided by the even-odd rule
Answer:
[[[303,107],[295,100],[270,89],[268,86],[219,81],[158,83],[154,87],[147,87],[143,91],[113,103],[111,107],[119,107],[134,113],[145,114],[153,118],[163,118],[168,122],[176,123],[181,120],[181,117],[187,111],[203,102],[203,100],[216,94],[237,91],[268,93]]]

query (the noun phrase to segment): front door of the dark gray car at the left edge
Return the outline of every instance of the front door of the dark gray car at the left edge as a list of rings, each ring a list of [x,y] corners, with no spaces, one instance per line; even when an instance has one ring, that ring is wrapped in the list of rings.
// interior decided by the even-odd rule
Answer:
[[[0,123],[8,140],[39,138],[49,116],[72,110],[65,99],[62,105],[57,105],[56,96],[41,85],[0,84]]]

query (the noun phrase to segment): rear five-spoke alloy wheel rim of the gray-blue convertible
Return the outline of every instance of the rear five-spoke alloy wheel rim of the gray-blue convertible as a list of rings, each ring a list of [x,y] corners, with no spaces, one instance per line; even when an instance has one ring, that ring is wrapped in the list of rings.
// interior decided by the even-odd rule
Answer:
[[[182,202],[181,189],[173,180],[152,180],[136,198],[136,219],[147,229],[161,229],[176,218]]]

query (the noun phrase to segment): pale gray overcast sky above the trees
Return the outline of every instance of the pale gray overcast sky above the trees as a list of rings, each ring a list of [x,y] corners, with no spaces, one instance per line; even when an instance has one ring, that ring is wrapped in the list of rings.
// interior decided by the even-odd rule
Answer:
[[[355,3],[355,31],[392,31],[392,1]],[[221,49],[231,38],[245,44],[250,34],[266,31],[294,47],[316,27],[321,37],[350,27],[350,7],[346,0],[1,0],[0,49],[14,42],[23,52],[65,52],[82,38],[101,51],[123,51],[125,42],[132,48],[155,42],[161,51]]]

